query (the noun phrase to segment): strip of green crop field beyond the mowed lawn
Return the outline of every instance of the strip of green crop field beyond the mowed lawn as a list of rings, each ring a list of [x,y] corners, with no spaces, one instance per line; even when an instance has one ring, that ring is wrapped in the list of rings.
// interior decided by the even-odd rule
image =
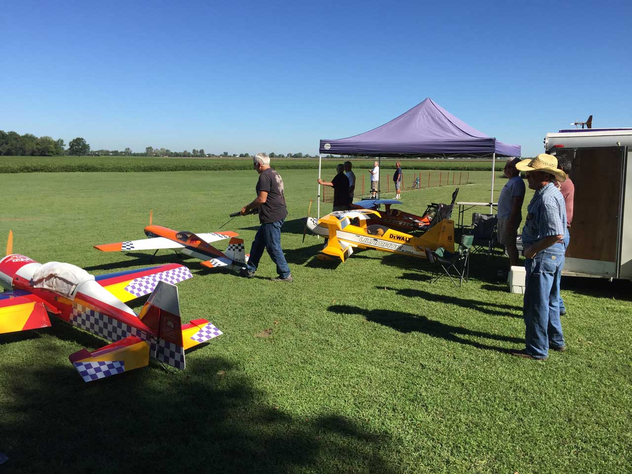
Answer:
[[[274,159],[274,166],[284,169],[317,169],[318,159]],[[324,168],[336,168],[341,158],[324,158]],[[354,167],[372,168],[374,159],[353,158]],[[492,167],[490,159],[406,159],[405,169],[442,169],[484,171]],[[382,166],[393,168],[396,160],[382,159]],[[502,171],[504,159],[496,161]],[[60,173],[90,171],[226,171],[252,169],[252,158],[169,158],[148,156],[0,156],[0,173]]]

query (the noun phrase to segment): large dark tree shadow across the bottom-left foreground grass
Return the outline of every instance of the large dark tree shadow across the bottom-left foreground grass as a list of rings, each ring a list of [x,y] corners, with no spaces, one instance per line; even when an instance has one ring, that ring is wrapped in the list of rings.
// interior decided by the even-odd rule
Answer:
[[[293,416],[224,358],[191,357],[185,372],[151,363],[84,384],[62,348],[39,343],[52,361],[45,370],[5,365],[2,374],[9,471],[398,471],[387,435],[335,413]]]

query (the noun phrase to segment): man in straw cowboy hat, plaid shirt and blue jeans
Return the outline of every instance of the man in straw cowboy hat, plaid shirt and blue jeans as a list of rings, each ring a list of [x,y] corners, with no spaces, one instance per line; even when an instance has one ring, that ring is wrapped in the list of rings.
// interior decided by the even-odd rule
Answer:
[[[512,355],[545,360],[549,349],[566,350],[559,319],[559,274],[564,266],[566,205],[555,181],[566,174],[557,169],[557,158],[541,154],[523,160],[516,168],[526,172],[535,194],[527,207],[522,243],[525,248],[526,288],[523,304],[525,349]]]

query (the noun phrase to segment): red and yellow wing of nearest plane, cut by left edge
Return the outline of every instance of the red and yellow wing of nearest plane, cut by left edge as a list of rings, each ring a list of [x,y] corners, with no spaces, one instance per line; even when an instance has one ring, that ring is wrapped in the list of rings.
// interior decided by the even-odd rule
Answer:
[[[0,293],[0,334],[50,327],[47,305],[35,295],[20,289]],[[58,312],[51,308],[52,312]]]

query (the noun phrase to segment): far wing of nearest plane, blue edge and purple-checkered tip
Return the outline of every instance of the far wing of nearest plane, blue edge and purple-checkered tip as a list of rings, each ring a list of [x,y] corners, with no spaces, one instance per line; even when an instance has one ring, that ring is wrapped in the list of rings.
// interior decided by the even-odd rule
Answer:
[[[191,277],[193,275],[185,265],[166,264],[99,275],[95,277],[95,280],[125,303],[134,298],[149,295],[161,280],[176,284]]]

